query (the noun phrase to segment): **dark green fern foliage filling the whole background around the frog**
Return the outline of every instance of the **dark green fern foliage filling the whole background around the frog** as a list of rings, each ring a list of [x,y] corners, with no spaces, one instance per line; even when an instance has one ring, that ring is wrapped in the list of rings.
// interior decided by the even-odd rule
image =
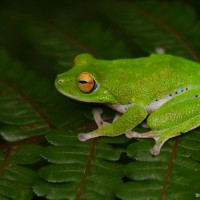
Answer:
[[[199,5],[2,1],[0,44],[10,56],[0,51],[0,199],[197,199],[199,129],[171,139],[156,157],[148,139],[80,142],[78,133],[97,128],[98,105],[67,99],[54,80],[82,52],[134,58],[161,47],[199,61]]]

